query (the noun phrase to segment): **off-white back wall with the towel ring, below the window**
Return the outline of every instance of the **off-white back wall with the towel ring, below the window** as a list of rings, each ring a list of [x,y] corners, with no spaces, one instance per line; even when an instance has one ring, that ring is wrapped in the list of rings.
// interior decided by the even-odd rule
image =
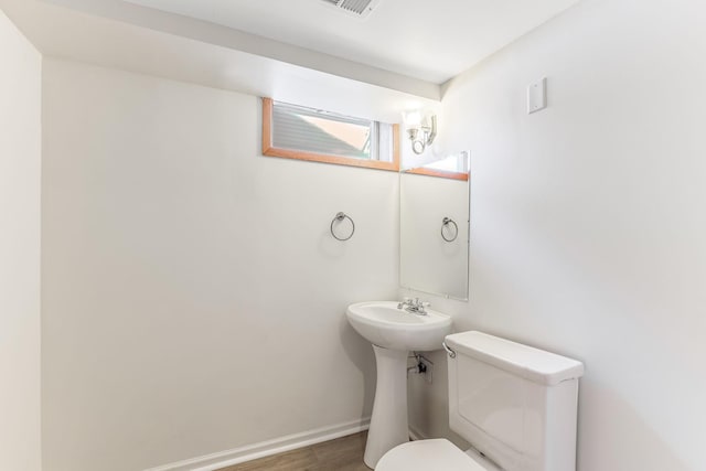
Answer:
[[[45,471],[364,421],[344,310],[396,295],[397,174],[263,157],[254,96],[53,58],[43,94]]]

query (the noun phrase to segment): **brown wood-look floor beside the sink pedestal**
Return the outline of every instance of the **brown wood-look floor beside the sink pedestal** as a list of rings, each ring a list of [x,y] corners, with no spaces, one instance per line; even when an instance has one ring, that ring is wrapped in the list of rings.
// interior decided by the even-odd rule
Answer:
[[[366,438],[363,431],[218,471],[370,471],[363,463]]]

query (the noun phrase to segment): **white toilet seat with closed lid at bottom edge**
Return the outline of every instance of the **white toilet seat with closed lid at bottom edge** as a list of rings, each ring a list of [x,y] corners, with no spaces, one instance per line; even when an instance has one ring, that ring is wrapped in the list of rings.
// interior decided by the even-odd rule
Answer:
[[[399,445],[383,456],[375,471],[486,471],[443,438]]]

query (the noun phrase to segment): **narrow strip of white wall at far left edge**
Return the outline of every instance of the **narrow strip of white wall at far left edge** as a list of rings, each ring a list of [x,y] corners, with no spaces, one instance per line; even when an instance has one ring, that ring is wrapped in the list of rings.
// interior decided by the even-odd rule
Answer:
[[[0,469],[39,471],[42,57],[0,11]]]

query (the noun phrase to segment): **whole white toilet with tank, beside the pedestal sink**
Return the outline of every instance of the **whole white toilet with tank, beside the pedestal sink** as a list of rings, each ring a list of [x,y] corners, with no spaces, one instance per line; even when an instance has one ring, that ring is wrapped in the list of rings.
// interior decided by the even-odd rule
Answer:
[[[482,332],[448,335],[449,425],[471,443],[399,445],[375,471],[575,471],[584,364]]]

